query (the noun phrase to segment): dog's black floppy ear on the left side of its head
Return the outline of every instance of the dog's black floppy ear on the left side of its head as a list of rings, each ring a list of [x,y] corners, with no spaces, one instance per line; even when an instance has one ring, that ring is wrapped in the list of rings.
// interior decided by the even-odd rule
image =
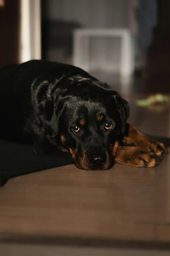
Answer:
[[[50,138],[55,138],[58,133],[58,122],[61,114],[60,101],[54,103],[54,99],[45,99],[39,105],[40,120]]]

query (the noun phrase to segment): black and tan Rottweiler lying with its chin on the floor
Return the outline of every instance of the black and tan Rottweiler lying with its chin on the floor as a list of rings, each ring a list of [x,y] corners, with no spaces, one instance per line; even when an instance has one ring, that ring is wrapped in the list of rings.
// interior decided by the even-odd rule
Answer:
[[[125,99],[78,67],[43,60],[10,65],[0,69],[0,88],[1,137],[27,138],[35,154],[62,150],[86,170],[115,162],[155,167],[167,154],[127,123]]]

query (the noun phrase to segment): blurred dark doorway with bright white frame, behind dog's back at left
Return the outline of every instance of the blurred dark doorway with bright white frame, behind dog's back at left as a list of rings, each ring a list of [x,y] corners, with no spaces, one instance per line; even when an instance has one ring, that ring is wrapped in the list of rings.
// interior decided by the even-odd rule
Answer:
[[[40,0],[0,4],[0,67],[41,59],[40,6]]]

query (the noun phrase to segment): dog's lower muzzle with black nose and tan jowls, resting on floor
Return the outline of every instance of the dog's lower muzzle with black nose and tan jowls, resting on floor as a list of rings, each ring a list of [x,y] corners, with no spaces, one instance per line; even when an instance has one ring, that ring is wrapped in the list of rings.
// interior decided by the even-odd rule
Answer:
[[[105,154],[88,156],[88,152],[78,153],[77,149],[69,149],[76,166],[84,170],[107,170],[114,165],[114,157],[111,150]]]

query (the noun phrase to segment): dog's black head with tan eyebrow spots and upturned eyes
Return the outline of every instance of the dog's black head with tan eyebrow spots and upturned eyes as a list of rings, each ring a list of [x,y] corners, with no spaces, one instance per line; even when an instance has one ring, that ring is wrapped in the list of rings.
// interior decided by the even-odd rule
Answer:
[[[51,140],[71,153],[78,168],[111,168],[129,116],[128,103],[97,80],[73,81],[71,87],[46,100],[44,126]]]

